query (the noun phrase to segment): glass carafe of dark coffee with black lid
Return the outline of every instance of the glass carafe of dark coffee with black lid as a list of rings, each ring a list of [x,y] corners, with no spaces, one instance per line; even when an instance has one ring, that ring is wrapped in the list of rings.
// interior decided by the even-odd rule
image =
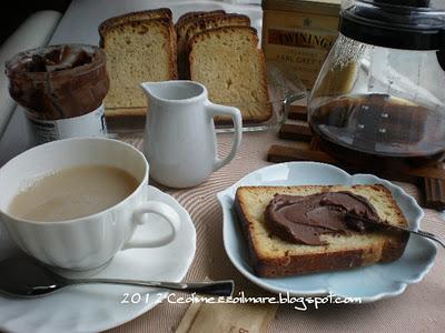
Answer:
[[[320,147],[365,169],[445,157],[445,1],[348,0],[309,101]]]

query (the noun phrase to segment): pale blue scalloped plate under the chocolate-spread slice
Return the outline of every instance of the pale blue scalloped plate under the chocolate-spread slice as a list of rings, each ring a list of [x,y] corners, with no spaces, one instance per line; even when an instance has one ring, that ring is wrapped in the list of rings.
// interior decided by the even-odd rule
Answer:
[[[289,162],[259,169],[218,193],[224,212],[226,252],[233,264],[248,280],[275,293],[289,292],[290,295],[298,296],[330,293],[340,297],[360,297],[365,303],[402,294],[408,284],[419,282],[431,270],[436,256],[436,245],[429,240],[412,235],[403,256],[392,263],[279,279],[255,275],[248,264],[247,246],[239,223],[231,211],[237,188],[241,185],[308,184],[383,184],[390,190],[412,228],[418,229],[424,215],[416,201],[403,189],[372,174],[350,175],[336,167],[315,162]]]

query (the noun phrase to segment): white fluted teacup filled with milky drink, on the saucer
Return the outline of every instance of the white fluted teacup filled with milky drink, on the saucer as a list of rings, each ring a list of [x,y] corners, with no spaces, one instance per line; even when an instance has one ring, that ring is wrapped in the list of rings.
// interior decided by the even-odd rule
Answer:
[[[149,164],[136,148],[110,139],[53,141],[0,169],[0,218],[14,242],[41,262],[91,270],[118,251],[175,240],[180,220],[147,198]],[[155,213],[169,224],[159,239],[134,238]]]

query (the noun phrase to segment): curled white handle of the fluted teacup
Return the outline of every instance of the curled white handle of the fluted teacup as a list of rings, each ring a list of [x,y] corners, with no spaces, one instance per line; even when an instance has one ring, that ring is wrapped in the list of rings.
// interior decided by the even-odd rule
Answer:
[[[131,236],[123,245],[122,250],[135,249],[135,248],[159,248],[175,240],[180,229],[180,219],[178,213],[171,206],[160,201],[145,202],[141,205],[139,205],[135,211],[135,222],[138,225],[147,223],[147,221],[145,221],[144,219],[144,215],[147,213],[155,213],[162,216],[170,224],[171,228],[170,233],[157,240],[137,241],[135,240],[135,236]]]

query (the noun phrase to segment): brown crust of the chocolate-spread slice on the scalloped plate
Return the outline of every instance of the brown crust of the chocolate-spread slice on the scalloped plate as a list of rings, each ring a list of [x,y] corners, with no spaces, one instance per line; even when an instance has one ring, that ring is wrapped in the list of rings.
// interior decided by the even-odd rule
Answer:
[[[386,194],[390,192],[383,185],[368,185],[377,191],[384,191]],[[246,186],[251,189],[254,186]],[[288,186],[290,189],[293,186]],[[295,188],[314,188],[295,186]],[[319,188],[319,186],[317,186]],[[322,186],[322,192],[328,192],[332,186]],[[354,186],[353,186],[354,188]],[[392,262],[402,256],[408,241],[406,234],[398,234],[396,241],[393,238],[387,238],[385,242],[376,242],[370,246],[364,246],[356,250],[345,250],[330,253],[308,253],[298,255],[286,255],[279,258],[264,258],[257,249],[256,241],[253,236],[253,221],[244,213],[243,202],[239,198],[238,191],[235,196],[235,212],[240,223],[244,239],[247,242],[248,253],[251,266],[255,273],[264,278],[280,278],[297,274],[309,274],[317,272],[329,272],[337,270],[348,270],[359,266],[370,265],[377,262]],[[270,190],[270,186],[255,186],[257,191]],[[394,198],[390,195],[393,209],[397,211],[397,215],[403,219],[404,224],[407,221],[404,218],[400,209],[396,204]],[[323,245],[322,245],[323,246]]]

